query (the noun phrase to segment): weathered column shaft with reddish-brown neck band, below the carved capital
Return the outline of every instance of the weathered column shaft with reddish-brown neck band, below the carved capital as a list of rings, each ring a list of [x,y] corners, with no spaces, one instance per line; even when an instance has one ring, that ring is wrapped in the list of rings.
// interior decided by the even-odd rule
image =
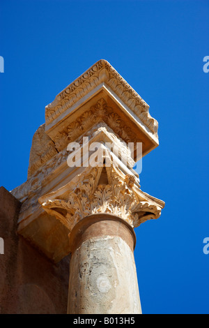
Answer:
[[[68,313],[141,313],[135,234],[118,216],[93,214],[70,233]]]

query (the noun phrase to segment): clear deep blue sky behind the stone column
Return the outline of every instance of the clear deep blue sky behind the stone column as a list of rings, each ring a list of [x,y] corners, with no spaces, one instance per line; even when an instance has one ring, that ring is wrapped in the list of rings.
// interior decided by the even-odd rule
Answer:
[[[107,59],[159,121],[140,179],[166,205],[136,230],[142,311],[209,313],[209,1],[0,0],[0,31],[0,184],[26,181],[45,105]]]

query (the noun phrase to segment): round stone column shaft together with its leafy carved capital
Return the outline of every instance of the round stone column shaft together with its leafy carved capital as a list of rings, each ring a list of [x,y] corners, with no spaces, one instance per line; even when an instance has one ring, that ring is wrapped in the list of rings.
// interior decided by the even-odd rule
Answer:
[[[160,216],[162,202],[120,167],[87,167],[40,198],[69,233],[68,313],[141,313],[134,229]]]

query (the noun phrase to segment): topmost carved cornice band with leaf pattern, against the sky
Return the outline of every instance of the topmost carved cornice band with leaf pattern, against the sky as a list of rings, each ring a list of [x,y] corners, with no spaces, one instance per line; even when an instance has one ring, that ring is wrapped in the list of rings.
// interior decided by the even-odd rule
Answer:
[[[60,114],[77,103],[79,99],[88,94],[100,83],[105,82],[115,94],[121,98],[137,117],[157,135],[157,121],[149,114],[148,104],[137,94],[120,74],[104,59],[95,63],[91,68],[72,82],[55,100],[45,107],[46,124],[51,123]]]

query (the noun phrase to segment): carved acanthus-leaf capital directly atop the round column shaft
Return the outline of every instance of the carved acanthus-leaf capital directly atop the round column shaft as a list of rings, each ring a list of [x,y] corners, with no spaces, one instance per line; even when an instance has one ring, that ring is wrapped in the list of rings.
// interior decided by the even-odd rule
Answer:
[[[136,228],[150,218],[158,218],[162,206],[150,199],[135,184],[135,177],[118,167],[103,168],[107,184],[100,184],[102,167],[79,174],[58,191],[39,199],[42,208],[70,231],[91,214],[115,214]],[[103,171],[104,172],[104,171]]]

